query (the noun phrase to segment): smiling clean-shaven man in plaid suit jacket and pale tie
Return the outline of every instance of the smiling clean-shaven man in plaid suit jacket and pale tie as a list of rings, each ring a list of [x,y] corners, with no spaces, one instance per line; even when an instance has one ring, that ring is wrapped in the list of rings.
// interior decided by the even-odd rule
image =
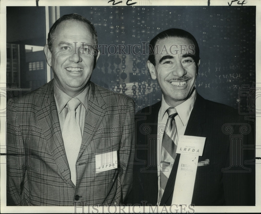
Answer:
[[[132,184],[134,102],[90,82],[100,54],[93,45],[97,33],[90,21],[77,14],[64,15],[51,27],[44,47],[54,79],[19,100],[8,101],[7,205],[73,206],[80,201],[118,205],[126,198]],[[79,99],[84,111],[88,101],[85,118],[80,110],[82,142],[75,184],[61,132],[63,109],[58,111],[55,90],[78,99],[85,91],[85,99]],[[101,154],[113,158],[110,170],[106,169],[109,160],[96,163]]]

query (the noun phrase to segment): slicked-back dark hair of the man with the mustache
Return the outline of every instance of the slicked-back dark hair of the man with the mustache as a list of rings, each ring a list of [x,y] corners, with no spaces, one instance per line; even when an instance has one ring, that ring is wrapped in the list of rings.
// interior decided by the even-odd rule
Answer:
[[[190,39],[194,45],[195,45],[195,63],[198,67],[198,61],[199,61],[199,47],[198,47],[198,43],[196,41],[196,39],[194,38],[194,36],[192,36],[192,34],[190,34],[187,31],[184,31],[182,29],[178,29],[178,28],[170,28],[168,30],[162,31],[161,33],[159,33],[157,36],[155,36],[149,44],[149,48],[150,48],[150,55],[149,55],[149,61],[155,66],[156,62],[155,62],[155,46],[156,43],[161,40],[161,39],[165,39],[168,37],[180,37],[180,38],[187,38]]]

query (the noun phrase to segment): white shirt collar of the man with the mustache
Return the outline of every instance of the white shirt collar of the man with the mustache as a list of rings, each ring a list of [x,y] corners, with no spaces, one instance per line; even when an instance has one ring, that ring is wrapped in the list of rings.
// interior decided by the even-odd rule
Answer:
[[[190,97],[187,100],[185,100],[183,103],[175,107],[183,126],[187,125],[188,123],[190,113],[195,103],[195,99],[196,99],[196,89],[193,91],[193,93],[190,95]],[[162,95],[161,108],[159,109],[159,118],[161,119],[161,121],[163,119],[166,110],[169,107],[171,106],[169,106],[166,103]]]

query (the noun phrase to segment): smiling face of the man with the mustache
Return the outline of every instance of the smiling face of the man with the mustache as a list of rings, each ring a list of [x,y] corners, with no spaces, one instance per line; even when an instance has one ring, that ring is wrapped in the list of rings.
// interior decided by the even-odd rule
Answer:
[[[183,49],[174,52],[171,48],[173,44]],[[182,37],[160,39],[156,44],[158,53],[153,54],[154,59],[150,57],[147,61],[151,78],[158,80],[164,100],[172,107],[187,100],[194,91],[200,59],[199,56],[188,54],[191,44],[194,44],[191,39]]]

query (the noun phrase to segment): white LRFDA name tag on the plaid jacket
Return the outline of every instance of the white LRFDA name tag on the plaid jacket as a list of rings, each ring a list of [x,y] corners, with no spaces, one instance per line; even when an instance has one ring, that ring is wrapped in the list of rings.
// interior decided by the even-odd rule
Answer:
[[[95,155],[96,173],[117,169],[117,151]]]

